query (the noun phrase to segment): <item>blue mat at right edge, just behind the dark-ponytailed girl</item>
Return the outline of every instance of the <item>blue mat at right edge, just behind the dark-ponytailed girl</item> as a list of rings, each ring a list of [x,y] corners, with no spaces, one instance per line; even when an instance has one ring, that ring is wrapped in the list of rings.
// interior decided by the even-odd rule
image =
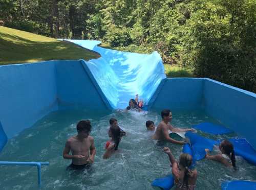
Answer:
[[[248,162],[256,165],[256,151],[245,138],[228,139],[234,146],[234,154],[242,156]]]

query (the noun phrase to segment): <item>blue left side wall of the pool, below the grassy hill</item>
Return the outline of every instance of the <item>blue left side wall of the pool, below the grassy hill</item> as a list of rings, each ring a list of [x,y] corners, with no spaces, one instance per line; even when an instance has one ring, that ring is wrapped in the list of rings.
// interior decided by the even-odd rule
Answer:
[[[57,110],[55,64],[0,66],[0,121],[8,138]]]

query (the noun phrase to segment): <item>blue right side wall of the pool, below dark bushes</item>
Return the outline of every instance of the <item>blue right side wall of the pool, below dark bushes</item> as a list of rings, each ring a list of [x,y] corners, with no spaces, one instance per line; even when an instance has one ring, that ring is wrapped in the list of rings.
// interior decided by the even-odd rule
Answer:
[[[204,79],[205,112],[245,137],[256,148],[256,94]]]

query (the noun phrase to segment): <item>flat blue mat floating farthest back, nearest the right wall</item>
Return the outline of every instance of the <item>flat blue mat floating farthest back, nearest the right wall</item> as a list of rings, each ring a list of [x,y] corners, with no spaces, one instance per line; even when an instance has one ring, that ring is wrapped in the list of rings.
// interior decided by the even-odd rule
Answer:
[[[194,125],[193,127],[209,134],[226,134],[232,132],[230,129],[226,127],[208,122]]]

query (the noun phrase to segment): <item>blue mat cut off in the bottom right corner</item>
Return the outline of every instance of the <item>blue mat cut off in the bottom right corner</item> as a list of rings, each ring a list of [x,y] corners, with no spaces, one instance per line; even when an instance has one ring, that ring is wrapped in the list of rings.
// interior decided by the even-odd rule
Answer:
[[[256,182],[253,181],[225,181],[221,184],[222,190],[256,190]]]

